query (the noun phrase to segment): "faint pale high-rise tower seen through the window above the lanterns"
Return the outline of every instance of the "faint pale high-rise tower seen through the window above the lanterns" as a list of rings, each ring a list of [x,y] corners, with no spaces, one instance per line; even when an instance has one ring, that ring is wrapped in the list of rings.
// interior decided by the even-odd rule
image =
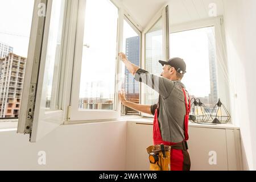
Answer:
[[[216,42],[212,31],[207,32],[210,68],[210,94],[209,104],[214,105],[218,101],[217,90],[217,63],[216,63]]]

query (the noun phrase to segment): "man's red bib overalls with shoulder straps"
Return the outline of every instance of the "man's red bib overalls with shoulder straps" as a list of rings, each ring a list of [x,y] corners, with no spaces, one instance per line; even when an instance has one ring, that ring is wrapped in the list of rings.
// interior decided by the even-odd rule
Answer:
[[[187,95],[185,89],[182,88],[185,98],[186,106],[186,115],[184,119],[184,133],[185,139],[181,143],[171,143],[165,142],[162,139],[161,131],[159,128],[158,122],[158,109],[155,110],[154,118],[154,130],[153,130],[153,140],[154,145],[164,144],[167,146],[172,146],[171,149],[171,171],[189,171],[190,170],[190,158],[188,154],[187,140],[188,140],[188,121],[189,121],[189,112],[191,109],[191,102],[189,98],[189,104],[187,102]]]

